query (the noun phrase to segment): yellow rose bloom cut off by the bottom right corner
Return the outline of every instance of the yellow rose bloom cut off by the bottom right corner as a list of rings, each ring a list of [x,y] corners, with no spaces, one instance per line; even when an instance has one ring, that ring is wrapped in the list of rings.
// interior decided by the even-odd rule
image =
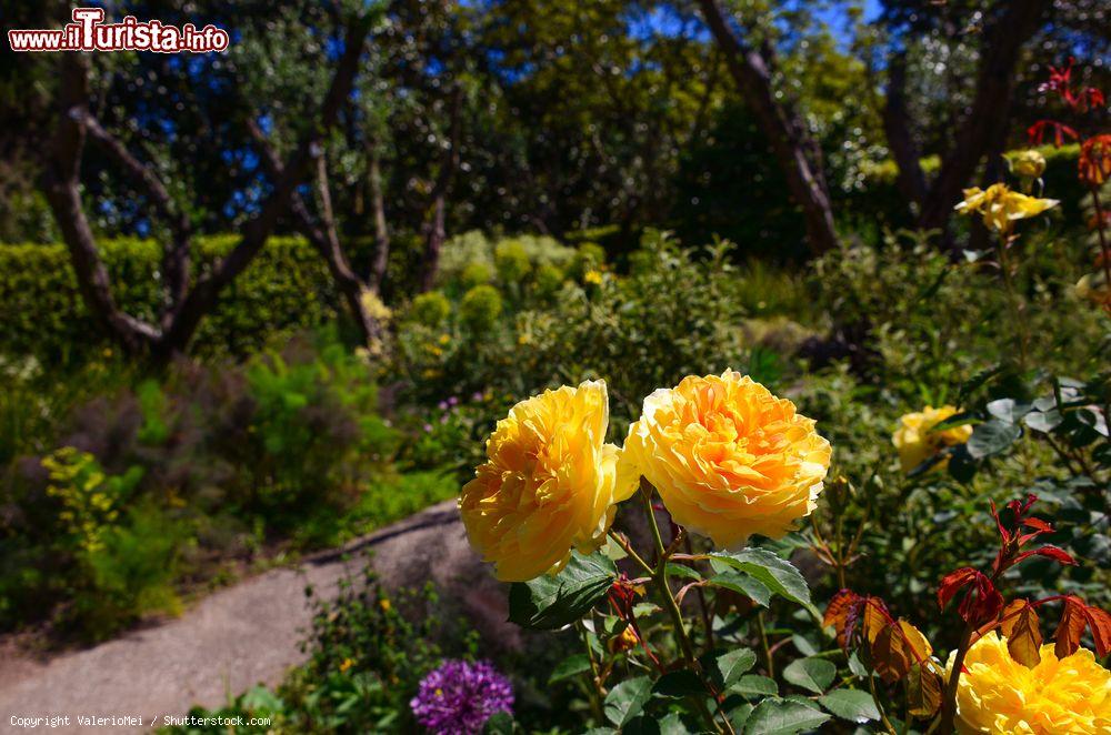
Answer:
[[[1027,668],[992,631],[972,645],[964,667],[957,689],[962,735],[1111,733],[1111,672],[1087,648],[1059,660],[1050,643],[1041,647],[1041,663]]]

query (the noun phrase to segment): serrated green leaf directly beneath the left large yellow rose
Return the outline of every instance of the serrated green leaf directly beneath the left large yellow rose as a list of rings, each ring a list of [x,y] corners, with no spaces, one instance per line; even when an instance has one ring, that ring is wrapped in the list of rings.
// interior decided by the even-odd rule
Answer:
[[[559,574],[513,583],[509,590],[509,620],[540,631],[570,625],[605,596],[614,578],[617,567],[609,557],[571,552],[571,561]]]

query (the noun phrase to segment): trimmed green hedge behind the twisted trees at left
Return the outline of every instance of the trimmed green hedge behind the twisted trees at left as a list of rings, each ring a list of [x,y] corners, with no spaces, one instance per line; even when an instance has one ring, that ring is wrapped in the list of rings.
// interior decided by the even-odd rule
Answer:
[[[212,268],[238,240],[197,238],[193,276]],[[102,241],[100,251],[120,306],[153,319],[162,293],[161,248],[152,240],[119,239]],[[271,238],[201,322],[193,351],[244,355],[333,321],[340,303],[326,264],[309,243]],[[108,344],[81,299],[63,244],[0,244],[0,353],[54,361]]]

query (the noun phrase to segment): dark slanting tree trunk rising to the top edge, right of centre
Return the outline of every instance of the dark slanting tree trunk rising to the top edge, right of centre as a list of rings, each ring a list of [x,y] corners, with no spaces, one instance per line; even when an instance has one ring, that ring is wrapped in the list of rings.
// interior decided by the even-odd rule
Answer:
[[[779,103],[764,58],[750,48],[725,20],[717,0],[699,0],[710,32],[745,102],[757,115],[783,171],[795,204],[802,210],[810,250],[818,255],[837,246],[833,210],[821,169],[808,158],[817,150],[798,114]]]

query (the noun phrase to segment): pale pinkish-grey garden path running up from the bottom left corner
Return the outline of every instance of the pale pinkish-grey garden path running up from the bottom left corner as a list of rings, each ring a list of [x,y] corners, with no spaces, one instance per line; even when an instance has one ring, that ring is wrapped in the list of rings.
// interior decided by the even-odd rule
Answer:
[[[181,617],[93,648],[37,662],[0,650],[0,732],[141,732],[162,715],[218,706],[259,682],[274,684],[303,661],[298,643],[311,611],[304,586],[332,595],[344,568],[361,568],[370,548],[390,585],[429,577],[459,596],[482,626],[506,620],[504,594],[467,545],[454,501],[434,505],[343,550],[274,570],[207,597]],[[432,560],[437,563],[433,565]],[[69,716],[70,725],[30,731],[12,717]],[[141,717],[146,727],[83,727],[78,715]]]

